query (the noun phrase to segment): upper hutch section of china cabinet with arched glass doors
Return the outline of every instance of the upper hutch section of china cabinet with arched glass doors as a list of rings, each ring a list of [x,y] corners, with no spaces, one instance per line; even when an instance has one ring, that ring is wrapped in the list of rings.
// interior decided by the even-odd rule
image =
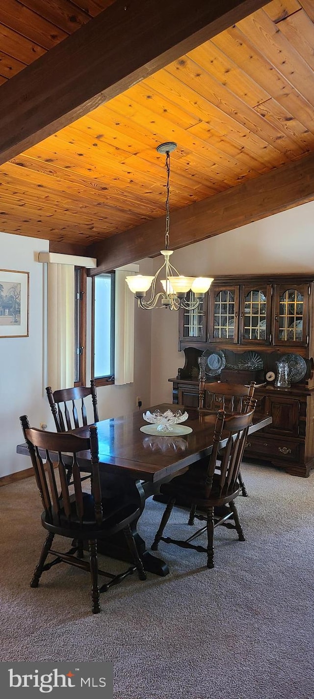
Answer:
[[[306,347],[313,277],[216,278],[197,310],[179,311],[179,349],[190,345]]]

